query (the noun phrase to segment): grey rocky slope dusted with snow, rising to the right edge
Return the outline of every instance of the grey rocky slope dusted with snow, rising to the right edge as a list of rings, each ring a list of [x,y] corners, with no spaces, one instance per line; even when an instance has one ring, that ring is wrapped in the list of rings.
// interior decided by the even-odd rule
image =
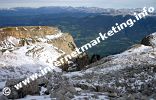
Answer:
[[[156,34],[129,50],[111,55],[87,66],[86,70],[66,73],[74,87],[80,88],[79,98],[112,100],[156,99]],[[148,46],[149,45],[149,46]],[[103,94],[101,94],[103,93]],[[105,100],[104,99],[104,100]]]

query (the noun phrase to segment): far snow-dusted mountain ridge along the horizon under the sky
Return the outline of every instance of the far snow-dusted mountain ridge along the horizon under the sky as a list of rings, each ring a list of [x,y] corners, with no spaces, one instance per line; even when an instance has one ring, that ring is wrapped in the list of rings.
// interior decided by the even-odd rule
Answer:
[[[97,8],[97,7],[40,7],[40,8],[29,8],[29,7],[17,7],[17,8],[6,8],[0,9],[0,13],[12,12],[14,14],[59,14],[59,13],[100,13],[100,14],[114,14],[114,15],[125,15],[133,14],[134,12],[140,12],[142,8],[135,9],[113,9],[113,8]],[[154,13],[156,14],[156,13]]]

